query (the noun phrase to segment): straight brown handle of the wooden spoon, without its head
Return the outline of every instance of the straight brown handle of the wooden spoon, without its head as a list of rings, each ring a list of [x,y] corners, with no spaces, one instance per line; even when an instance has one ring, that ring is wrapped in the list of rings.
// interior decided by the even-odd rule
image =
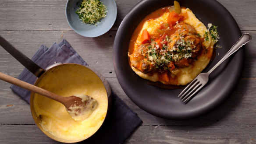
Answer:
[[[43,88],[39,88],[39,87],[37,87],[35,85],[32,85],[32,84],[29,84],[25,81],[21,81],[17,78],[11,77],[7,74],[0,73],[0,80],[6,81],[6,82],[14,84],[14,85],[17,85],[18,87],[21,87],[21,88],[25,88],[28,91],[33,91],[37,94],[46,96],[47,98],[54,99],[57,102],[60,102],[62,104],[64,103],[64,97],[62,97],[60,95],[56,95],[56,94],[54,94],[50,91],[46,91]]]

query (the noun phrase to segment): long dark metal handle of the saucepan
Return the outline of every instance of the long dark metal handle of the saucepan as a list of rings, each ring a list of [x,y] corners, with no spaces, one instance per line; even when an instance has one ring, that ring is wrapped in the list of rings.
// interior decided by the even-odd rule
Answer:
[[[36,77],[40,77],[45,72],[43,68],[39,67],[27,56],[21,53],[10,42],[4,39],[1,35],[0,35],[0,46],[2,46],[8,53],[10,53],[16,60],[18,60],[24,67],[26,67]]]

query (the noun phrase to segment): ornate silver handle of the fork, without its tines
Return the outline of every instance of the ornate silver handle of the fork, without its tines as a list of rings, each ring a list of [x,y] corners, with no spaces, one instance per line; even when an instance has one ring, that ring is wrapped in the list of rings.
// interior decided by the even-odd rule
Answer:
[[[242,46],[244,46],[246,43],[250,42],[252,39],[252,36],[249,33],[244,33],[241,38],[236,42],[234,46],[231,47],[231,49],[228,51],[228,53],[223,56],[223,58],[207,73],[210,74],[213,70],[216,69],[222,63],[224,60],[226,60],[229,56],[231,56],[233,53],[235,53],[238,49],[240,49]]]

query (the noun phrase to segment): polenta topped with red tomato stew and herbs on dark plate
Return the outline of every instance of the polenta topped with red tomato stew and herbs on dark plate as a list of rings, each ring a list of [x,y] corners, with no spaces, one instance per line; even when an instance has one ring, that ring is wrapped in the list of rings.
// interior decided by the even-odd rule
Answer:
[[[128,57],[132,70],[153,82],[188,84],[212,58],[218,35],[210,33],[210,28],[217,27],[208,27],[185,7],[179,14],[172,7],[149,14],[130,41]]]

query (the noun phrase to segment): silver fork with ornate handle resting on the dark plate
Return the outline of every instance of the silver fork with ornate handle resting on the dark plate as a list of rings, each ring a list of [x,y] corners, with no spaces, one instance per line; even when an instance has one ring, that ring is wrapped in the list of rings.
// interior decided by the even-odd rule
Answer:
[[[181,91],[180,95],[178,97],[181,99],[183,103],[187,103],[188,100],[192,98],[193,95],[195,95],[203,86],[208,82],[210,73],[215,70],[216,67],[220,65],[224,60],[226,60],[229,56],[231,56],[233,53],[235,53],[238,49],[240,49],[242,46],[244,46],[246,43],[250,42],[252,39],[252,36],[248,33],[244,33],[241,38],[236,42],[234,46],[226,53],[225,56],[207,73],[201,73],[199,74],[193,81],[191,81],[188,86]]]

